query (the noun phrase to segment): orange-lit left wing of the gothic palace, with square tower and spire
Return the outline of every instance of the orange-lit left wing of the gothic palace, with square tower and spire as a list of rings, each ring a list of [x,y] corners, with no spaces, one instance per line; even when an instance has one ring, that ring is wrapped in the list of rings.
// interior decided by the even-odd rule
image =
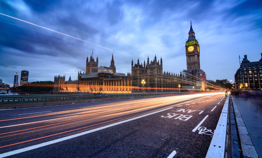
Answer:
[[[90,60],[86,60],[86,73],[79,72],[77,80],[65,80],[65,75],[55,76],[54,92],[84,92],[84,93],[131,93],[130,73],[116,73],[115,61],[112,55],[109,67],[98,67],[98,57],[94,60],[93,52]]]

